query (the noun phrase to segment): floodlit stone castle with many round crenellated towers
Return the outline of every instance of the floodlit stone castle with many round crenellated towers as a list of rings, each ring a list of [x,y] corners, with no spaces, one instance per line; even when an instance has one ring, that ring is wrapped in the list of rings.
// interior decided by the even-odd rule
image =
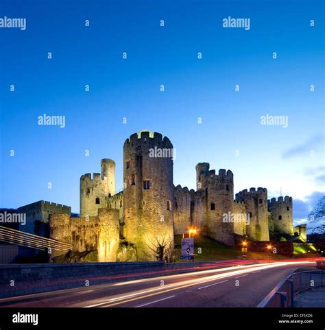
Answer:
[[[167,137],[147,130],[132,134],[123,145],[123,191],[115,193],[115,162],[102,159],[100,174],[80,178],[80,217],[50,215],[51,237],[76,252],[96,250],[98,261],[142,261],[155,259],[159,246],[173,250],[174,235],[191,226],[228,246],[237,235],[255,241],[294,235],[291,197],[267,200],[267,189],[258,187],[234,198],[230,169],[216,173],[208,163],[196,165],[196,182],[196,191],[173,185]]]

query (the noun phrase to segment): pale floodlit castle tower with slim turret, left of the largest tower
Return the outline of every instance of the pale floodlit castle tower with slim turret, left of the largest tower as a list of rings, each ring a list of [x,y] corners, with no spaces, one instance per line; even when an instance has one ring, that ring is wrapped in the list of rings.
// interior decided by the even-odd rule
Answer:
[[[106,207],[106,199],[115,195],[115,161],[101,159],[101,174],[87,173],[80,178],[80,216],[96,216]]]

